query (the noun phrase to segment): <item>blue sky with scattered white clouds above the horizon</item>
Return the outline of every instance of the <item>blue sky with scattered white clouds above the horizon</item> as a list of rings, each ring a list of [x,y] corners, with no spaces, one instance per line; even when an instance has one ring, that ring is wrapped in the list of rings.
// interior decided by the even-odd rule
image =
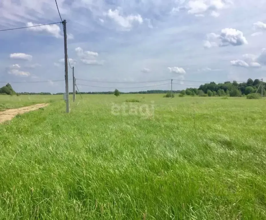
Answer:
[[[77,84],[95,86],[79,85],[81,91],[170,89],[161,85],[170,80],[159,80],[171,78],[175,90],[202,84],[193,81],[266,78],[264,0],[58,0],[58,6]],[[51,0],[0,3],[0,30],[58,21]],[[63,92],[64,81],[53,82],[64,80],[62,36],[61,24],[0,32],[0,81],[22,82],[11,83],[18,92]]]

